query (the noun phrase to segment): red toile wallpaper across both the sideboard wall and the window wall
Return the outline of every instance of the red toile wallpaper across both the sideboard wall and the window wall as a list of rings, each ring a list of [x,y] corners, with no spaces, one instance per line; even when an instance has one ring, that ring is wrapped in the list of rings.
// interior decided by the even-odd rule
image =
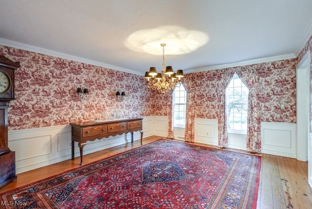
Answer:
[[[0,55],[21,65],[15,75],[16,100],[8,109],[9,130],[94,120],[102,112],[106,117],[116,112],[120,117],[167,115],[171,95],[148,89],[143,76],[7,46],[0,46]],[[260,73],[261,121],[296,123],[296,63],[292,59],[186,74],[194,117],[217,119],[221,98],[216,89],[222,73],[244,67]],[[89,89],[83,102],[76,95],[77,87]],[[117,99],[117,91],[126,96]]]

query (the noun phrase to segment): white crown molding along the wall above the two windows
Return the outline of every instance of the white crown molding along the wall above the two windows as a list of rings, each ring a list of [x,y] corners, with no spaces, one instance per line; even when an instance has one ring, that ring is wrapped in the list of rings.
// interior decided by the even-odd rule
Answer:
[[[189,73],[195,73],[195,72],[219,70],[219,69],[225,69],[225,68],[230,68],[230,67],[239,67],[239,66],[258,64],[258,63],[269,63],[273,61],[288,60],[288,59],[294,59],[294,58],[296,58],[294,54],[286,54],[286,55],[280,55],[280,56],[274,56],[274,57],[268,57],[268,58],[260,58],[260,59],[242,61],[242,62],[237,62],[237,63],[227,63],[227,64],[219,64],[219,65],[214,65],[214,66],[209,66],[209,67],[200,67],[200,68],[183,70],[183,71],[184,71],[184,74],[189,74]]]

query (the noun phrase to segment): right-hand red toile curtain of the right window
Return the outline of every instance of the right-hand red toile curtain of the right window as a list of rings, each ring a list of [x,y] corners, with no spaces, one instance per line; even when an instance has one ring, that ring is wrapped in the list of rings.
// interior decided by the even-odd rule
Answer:
[[[247,148],[251,152],[261,150],[261,120],[259,102],[259,70],[244,66],[236,70],[241,81],[249,88],[247,118]]]

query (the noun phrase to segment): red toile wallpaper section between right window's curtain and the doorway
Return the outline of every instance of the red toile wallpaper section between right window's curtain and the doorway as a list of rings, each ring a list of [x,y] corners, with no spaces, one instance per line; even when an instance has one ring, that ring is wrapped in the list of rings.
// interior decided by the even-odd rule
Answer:
[[[296,65],[292,59],[257,66],[262,122],[296,123]]]

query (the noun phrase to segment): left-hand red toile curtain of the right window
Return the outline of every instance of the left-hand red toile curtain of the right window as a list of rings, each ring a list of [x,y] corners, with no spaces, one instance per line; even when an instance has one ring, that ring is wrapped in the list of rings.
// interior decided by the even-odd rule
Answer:
[[[219,71],[221,73],[221,82],[219,86],[219,98],[220,98],[220,108],[219,108],[219,125],[218,125],[218,146],[223,148],[228,146],[228,125],[227,125],[227,105],[226,105],[226,88],[230,84],[235,71],[231,69],[224,69]]]

